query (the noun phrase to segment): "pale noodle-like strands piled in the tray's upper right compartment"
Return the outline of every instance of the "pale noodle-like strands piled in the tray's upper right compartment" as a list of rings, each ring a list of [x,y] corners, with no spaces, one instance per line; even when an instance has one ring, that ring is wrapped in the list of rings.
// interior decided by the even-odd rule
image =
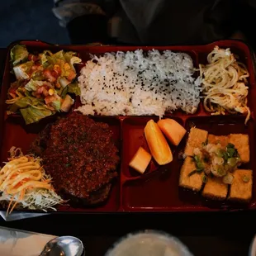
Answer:
[[[249,121],[250,110],[247,106],[249,72],[245,65],[238,62],[230,49],[218,46],[207,56],[208,64],[200,64],[204,107],[212,115],[230,113],[246,114]]]

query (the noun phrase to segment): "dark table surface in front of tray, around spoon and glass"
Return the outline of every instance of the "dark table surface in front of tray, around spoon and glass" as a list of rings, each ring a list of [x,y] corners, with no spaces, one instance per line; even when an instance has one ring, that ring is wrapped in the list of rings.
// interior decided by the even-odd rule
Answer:
[[[0,49],[0,81],[6,50]],[[74,235],[86,255],[104,255],[122,235],[136,230],[164,230],[181,239],[195,256],[248,255],[256,233],[256,212],[164,214],[54,214],[0,225],[50,235]]]

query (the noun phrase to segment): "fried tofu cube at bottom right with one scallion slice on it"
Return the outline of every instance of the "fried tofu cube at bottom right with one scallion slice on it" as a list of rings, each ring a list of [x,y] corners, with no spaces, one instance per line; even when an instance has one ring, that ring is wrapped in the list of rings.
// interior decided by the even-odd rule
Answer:
[[[236,169],[230,186],[230,201],[249,202],[253,194],[253,171]]]

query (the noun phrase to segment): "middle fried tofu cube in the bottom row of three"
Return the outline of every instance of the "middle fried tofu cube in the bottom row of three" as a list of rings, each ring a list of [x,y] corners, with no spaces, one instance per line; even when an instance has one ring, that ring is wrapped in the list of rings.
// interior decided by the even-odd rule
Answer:
[[[222,201],[228,194],[228,185],[222,182],[222,178],[208,178],[201,194],[203,197]]]

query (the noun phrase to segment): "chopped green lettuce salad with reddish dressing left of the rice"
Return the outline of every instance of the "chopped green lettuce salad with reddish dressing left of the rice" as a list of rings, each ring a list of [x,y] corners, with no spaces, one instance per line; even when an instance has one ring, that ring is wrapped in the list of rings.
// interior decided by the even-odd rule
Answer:
[[[21,114],[28,125],[56,112],[69,111],[73,105],[70,94],[80,95],[74,64],[81,61],[72,51],[54,54],[45,50],[32,55],[25,45],[15,45],[11,62],[17,80],[8,90],[7,114]]]

